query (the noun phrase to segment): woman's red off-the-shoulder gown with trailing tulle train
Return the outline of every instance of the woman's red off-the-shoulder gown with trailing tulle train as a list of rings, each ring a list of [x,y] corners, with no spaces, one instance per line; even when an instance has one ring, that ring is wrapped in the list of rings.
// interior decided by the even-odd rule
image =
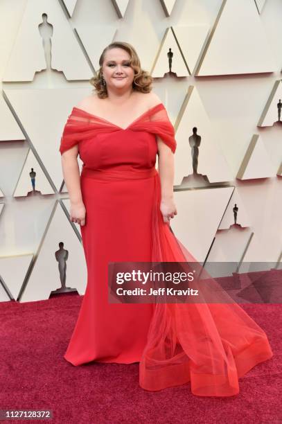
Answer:
[[[74,107],[64,127],[60,153],[78,144],[84,163],[88,273],[64,358],[76,366],[139,362],[139,385],[150,391],[191,382],[197,396],[232,396],[238,378],[272,357],[265,332],[238,304],[108,302],[109,262],[197,262],[159,209],[156,136],[175,152],[162,103],[126,128]]]

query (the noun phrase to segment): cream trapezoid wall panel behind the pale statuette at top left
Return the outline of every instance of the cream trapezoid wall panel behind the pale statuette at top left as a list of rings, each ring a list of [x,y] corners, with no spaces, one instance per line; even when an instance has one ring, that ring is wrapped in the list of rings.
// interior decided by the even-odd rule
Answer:
[[[46,69],[40,24],[49,28],[51,69],[62,71],[67,80],[89,80],[91,69],[59,1],[28,0],[3,81],[32,81],[35,72]]]

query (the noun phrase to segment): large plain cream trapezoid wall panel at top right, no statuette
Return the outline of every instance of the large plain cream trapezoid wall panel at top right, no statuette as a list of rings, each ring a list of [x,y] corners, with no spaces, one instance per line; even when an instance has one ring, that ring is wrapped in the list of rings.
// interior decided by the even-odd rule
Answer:
[[[196,75],[274,72],[277,65],[254,0],[223,0],[219,15]]]

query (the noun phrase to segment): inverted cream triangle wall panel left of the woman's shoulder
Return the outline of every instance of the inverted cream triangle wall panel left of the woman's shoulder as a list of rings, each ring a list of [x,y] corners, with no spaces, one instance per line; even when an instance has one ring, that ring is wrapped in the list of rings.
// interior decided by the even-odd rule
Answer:
[[[71,114],[70,105],[91,94],[91,88],[6,89],[5,93],[32,143],[33,153],[37,152],[46,175],[59,190],[63,176],[58,152],[64,123]]]

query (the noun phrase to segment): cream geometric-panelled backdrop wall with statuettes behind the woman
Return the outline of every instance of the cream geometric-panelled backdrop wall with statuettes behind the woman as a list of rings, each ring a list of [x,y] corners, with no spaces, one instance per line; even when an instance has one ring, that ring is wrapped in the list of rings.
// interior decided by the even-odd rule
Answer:
[[[177,238],[199,261],[281,267],[281,21],[281,0],[1,0],[0,301],[85,292],[60,138],[115,40],[175,126]]]

